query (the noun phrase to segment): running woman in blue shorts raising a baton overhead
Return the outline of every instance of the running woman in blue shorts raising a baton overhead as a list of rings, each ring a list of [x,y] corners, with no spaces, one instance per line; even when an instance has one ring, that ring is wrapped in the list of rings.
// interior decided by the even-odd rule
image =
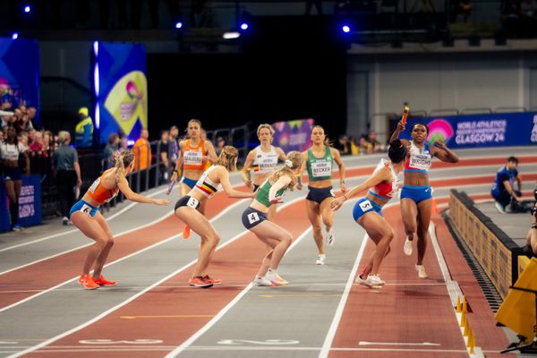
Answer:
[[[400,121],[391,141],[399,138],[399,133],[405,130],[405,123]],[[432,209],[432,192],[429,185],[429,169],[432,157],[443,162],[456,163],[458,157],[448,149],[443,141],[435,141],[434,146],[427,143],[429,128],[426,124],[413,124],[412,141],[401,140],[405,146],[410,146],[405,161],[405,182],[401,190],[401,215],[405,225],[405,255],[412,255],[414,234],[418,236],[418,260],[416,271],[418,277],[426,278],[427,273],[423,267],[423,257],[427,249],[427,235],[429,233],[430,212]]]

